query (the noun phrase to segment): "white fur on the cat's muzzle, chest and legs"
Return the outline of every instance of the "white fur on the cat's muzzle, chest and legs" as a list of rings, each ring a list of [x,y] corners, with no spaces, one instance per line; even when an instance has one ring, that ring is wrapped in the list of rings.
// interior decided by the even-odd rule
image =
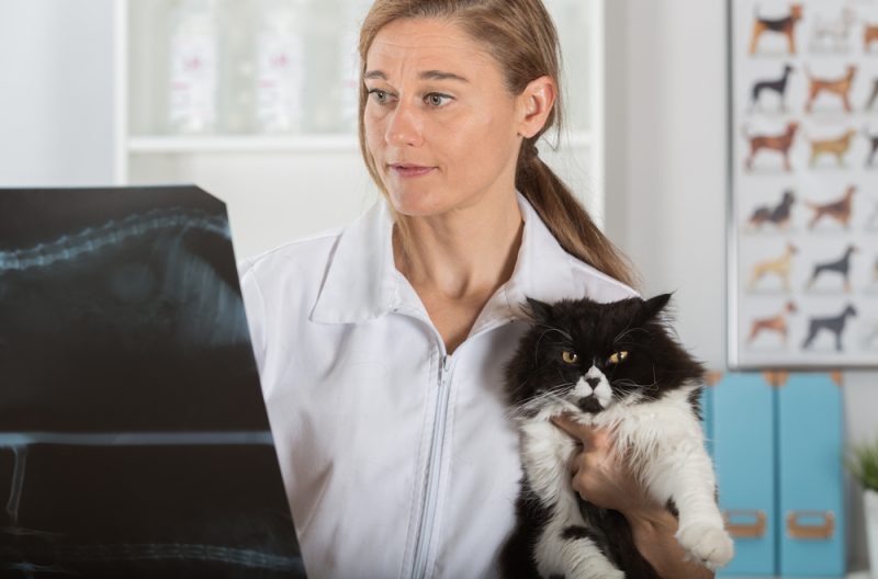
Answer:
[[[593,388],[584,378],[595,377],[600,383]],[[679,513],[676,538],[693,560],[711,569],[729,563],[733,544],[714,500],[716,476],[701,425],[689,405],[695,387],[638,404],[642,400],[638,396],[614,401],[606,376],[595,366],[584,378],[571,390],[570,398],[594,393],[605,408],[601,412],[586,415],[572,400],[555,398],[520,423],[522,466],[532,491],[551,509],[537,544],[540,575],[563,575],[567,579],[624,577],[590,540],[562,538],[567,526],[585,525],[569,469],[576,444],[550,422],[551,417],[563,412],[572,413],[584,424],[608,429],[615,450],[620,456],[630,457],[646,491],[661,504],[668,499],[674,501]]]

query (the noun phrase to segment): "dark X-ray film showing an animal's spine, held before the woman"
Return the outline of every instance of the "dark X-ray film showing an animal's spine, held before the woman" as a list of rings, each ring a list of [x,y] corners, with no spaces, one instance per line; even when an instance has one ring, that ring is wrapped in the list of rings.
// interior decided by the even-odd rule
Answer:
[[[0,577],[304,577],[225,205],[0,190]]]

